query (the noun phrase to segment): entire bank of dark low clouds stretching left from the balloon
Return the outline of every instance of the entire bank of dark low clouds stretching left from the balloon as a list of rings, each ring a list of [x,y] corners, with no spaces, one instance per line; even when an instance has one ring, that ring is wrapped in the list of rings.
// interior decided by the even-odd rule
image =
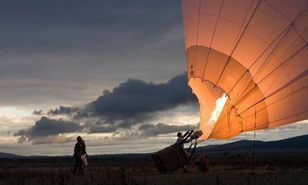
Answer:
[[[144,121],[154,121],[155,116],[159,115],[158,112],[187,103],[188,90],[190,88],[187,86],[185,74],[177,75],[161,84],[128,79],[111,91],[103,90],[103,95],[86,106],[59,106],[47,112],[49,116],[68,115],[66,119],[69,121],[42,116],[34,126],[27,130],[18,130],[14,136],[19,136],[18,143],[28,141],[36,145],[69,142],[70,138],[64,138],[64,134],[74,132],[151,137],[183,131],[187,129],[186,126],[158,123],[141,125],[136,133],[127,132],[123,135],[123,129],[129,130],[132,125],[142,124]],[[36,110],[36,114],[41,113],[41,110]]]

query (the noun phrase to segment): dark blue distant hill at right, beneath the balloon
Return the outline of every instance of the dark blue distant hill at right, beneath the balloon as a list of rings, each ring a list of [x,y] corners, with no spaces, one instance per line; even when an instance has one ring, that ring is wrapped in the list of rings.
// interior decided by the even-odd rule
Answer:
[[[253,149],[253,140],[239,140],[233,143],[223,145],[198,147],[196,151],[233,151],[241,149]],[[255,149],[284,149],[293,148],[301,149],[308,148],[308,134],[304,136],[296,136],[294,138],[287,138],[283,140],[261,141],[255,140]]]

